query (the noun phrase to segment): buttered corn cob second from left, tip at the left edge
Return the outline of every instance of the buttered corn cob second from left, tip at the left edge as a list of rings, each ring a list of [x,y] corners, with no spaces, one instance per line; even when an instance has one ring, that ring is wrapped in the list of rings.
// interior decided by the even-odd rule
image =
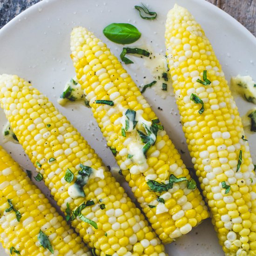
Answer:
[[[83,202],[86,205],[94,202],[82,209],[71,224],[95,248],[97,255],[166,255],[141,211],[135,208],[87,141],[46,96],[18,76],[3,74],[0,104],[61,210],[70,216],[71,210],[78,210]],[[92,174],[88,179],[79,170],[80,173],[91,170]],[[70,177],[71,173],[76,177],[75,183],[75,178],[71,183],[65,180],[65,175]],[[86,185],[81,185],[81,181]],[[84,217],[94,226],[85,222]]]

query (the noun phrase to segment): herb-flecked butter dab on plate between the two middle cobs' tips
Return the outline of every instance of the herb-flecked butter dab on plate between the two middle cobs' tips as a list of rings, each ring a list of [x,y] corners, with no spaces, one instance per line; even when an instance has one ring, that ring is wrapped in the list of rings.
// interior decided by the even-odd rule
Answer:
[[[63,89],[63,93],[67,90],[71,91],[70,94],[68,94],[66,98],[63,98],[63,94],[61,94],[61,97],[58,99],[58,103],[61,106],[65,106],[69,101],[85,100],[84,91],[81,88],[81,85],[78,83],[78,79],[76,78],[76,76],[66,83]]]

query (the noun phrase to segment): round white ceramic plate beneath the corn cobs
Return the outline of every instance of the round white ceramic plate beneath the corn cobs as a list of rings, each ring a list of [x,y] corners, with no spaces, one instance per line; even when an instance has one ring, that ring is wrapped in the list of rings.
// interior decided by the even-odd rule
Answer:
[[[166,14],[177,2],[187,7],[194,14],[209,37],[216,54],[222,63],[227,80],[236,74],[250,74],[255,77],[256,38],[240,23],[227,13],[204,0],[144,0],[150,9],[157,12],[157,20],[142,20],[134,9],[136,0],[43,0],[15,17],[0,30],[0,74],[17,74],[32,81],[34,87],[47,94],[62,113],[74,124],[89,144],[97,151],[106,165],[114,166],[115,160],[110,150],[105,147],[101,132],[96,125],[90,109],[79,104],[62,108],[57,103],[64,84],[74,75],[74,68],[69,57],[69,34],[72,27],[81,25],[92,30],[99,38],[108,43],[116,55],[121,53],[121,45],[108,41],[102,34],[105,26],[112,22],[134,24],[142,33],[141,39],[132,44],[136,47],[151,47],[155,54],[163,53],[164,24]],[[151,42],[152,41],[152,42]],[[141,85],[143,77],[152,81],[149,70],[143,66],[143,59],[131,57],[135,64],[126,68],[131,76]],[[152,62],[153,63],[153,62]],[[154,63],[152,64],[154,65]],[[179,115],[174,97],[162,100],[153,89],[145,92],[176,148],[186,153],[182,155],[188,167],[191,161],[184,135],[179,124]],[[250,108],[251,103],[236,99],[241,115]],[[159,110],[161,107],[163,110]],[[6,119],[0,109],[0,128]],[[249,136],[251,153],[256,162],[256,135]],[[24,168],[33,169],[20,145],[2,143],[8,152]],[[131,195],[127,184],[118,177]],[[42,182],[37,185],[49,195]],[[216,256],[223,255],[210,220],[204,221],[189,234],[166,246],[170,256]],[[4,255],[0,249],[0,255]]]

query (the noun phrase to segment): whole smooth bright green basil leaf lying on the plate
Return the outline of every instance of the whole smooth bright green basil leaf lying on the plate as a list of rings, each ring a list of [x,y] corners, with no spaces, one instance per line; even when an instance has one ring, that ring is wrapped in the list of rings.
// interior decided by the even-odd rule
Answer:
[[[141,37],[141,32],[129,23],[111,23],[103,29],[103,34],[118,44],[131,44]]]

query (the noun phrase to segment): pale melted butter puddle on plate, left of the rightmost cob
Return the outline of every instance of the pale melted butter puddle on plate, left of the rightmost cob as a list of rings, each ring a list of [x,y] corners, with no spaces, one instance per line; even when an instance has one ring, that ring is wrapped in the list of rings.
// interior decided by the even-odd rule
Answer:
[[[155,93],[162,99],[165,99],[168,95],[173,96],[174,93],[171,84],[171,77],[168,74],[168,64],[165,55],[153,54],[151,59],[145,58],[144,66],[149,69],[150,73],[154,77],[154,80],[156,81],[156,84],[152,87],[155,90]],[[167,73],[168,81],[165,81],[162,78],[163,73]],[[144,81],[144,85],[148,83],[148,79],[145,79]],[[162,90],[163,83],[167,84],[167,91]]]

